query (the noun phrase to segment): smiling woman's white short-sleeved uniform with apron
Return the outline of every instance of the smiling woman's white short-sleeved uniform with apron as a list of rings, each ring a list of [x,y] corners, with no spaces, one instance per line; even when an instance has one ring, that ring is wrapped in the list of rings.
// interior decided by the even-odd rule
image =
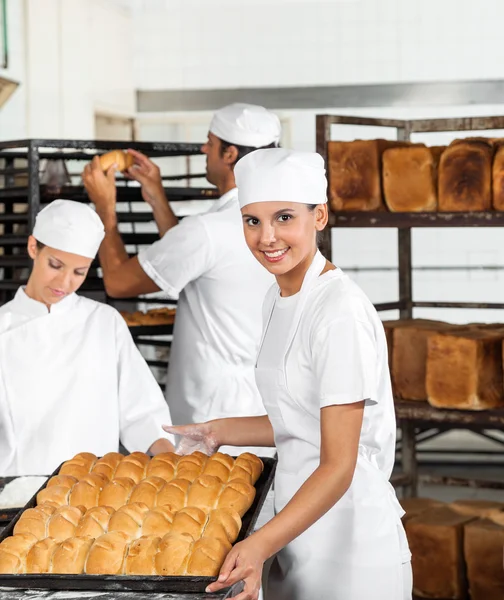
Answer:
[[[275,286],[265,302],[256,379],[278,450],[275,511],[319,465],[321,408],[365,400],[359,453],[348,491],[278,553],[266,598],[403,600],[410,553],[388,481],[396,423],[383,325],[341,270],[317,275],[318,256],[299,294]]]

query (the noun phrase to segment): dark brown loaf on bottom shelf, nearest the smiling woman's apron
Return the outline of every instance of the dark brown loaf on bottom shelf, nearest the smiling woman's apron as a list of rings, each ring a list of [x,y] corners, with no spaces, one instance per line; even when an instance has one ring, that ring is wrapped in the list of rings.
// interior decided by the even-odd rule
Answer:
[[[433,508],[405,522],[413,593],[422,598],[465,598],[463,530],[472,517]]]

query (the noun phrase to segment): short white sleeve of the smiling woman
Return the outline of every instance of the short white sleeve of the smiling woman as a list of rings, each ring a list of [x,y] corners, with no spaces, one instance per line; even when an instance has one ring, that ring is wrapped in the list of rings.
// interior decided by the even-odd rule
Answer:
[[[377,348],[371,323],[346,316],[319,329],[312,342],[320,407],[377,402]]]

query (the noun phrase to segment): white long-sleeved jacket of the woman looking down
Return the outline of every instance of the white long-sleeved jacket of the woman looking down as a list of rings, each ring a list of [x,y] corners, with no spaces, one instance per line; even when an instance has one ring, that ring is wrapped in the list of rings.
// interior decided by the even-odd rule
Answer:
[[[0,307],[0,475],[48,475],[78,452],[147,451],[170,411],[121,315],[19,288]]]

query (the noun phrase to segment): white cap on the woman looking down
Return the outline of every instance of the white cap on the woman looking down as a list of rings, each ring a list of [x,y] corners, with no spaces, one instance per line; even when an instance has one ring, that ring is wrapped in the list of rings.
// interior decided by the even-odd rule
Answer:
[[[105,229],[100,217],[86,204],[54,200],[37,215],[33,236],[56,250],[94,258]]]

